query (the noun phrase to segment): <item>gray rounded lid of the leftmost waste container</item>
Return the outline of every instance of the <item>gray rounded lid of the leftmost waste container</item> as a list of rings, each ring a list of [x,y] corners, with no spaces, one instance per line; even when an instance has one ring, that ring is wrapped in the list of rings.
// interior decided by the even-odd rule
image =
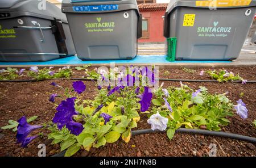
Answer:
[[[60,19],[67,23],[67,18],[61,10],[52,3],[38,0],[1,0],[1,12],[15,12],[8,18],[19,16],[34,16],[43,19],[54,20]],[[5,19],[5,18],[0,18]]]

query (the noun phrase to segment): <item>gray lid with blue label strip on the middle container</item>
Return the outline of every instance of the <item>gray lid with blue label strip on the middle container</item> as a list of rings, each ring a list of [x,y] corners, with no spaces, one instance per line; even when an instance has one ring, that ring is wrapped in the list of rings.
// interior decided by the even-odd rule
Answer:
[[[77,10],[76,10],[76,8]],[[79,10],[81,7],[81,10]],[[63,0],[62,12],[114,12],[129,9],[139,9],[136,0]]]

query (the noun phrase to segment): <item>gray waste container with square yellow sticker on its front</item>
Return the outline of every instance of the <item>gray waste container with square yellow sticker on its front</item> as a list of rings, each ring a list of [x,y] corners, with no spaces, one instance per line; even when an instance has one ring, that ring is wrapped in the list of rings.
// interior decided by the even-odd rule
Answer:
[[[177,37],[176,60],[234,60],[255,6],[255,0],[173,0],[164,17],[164,36]]]

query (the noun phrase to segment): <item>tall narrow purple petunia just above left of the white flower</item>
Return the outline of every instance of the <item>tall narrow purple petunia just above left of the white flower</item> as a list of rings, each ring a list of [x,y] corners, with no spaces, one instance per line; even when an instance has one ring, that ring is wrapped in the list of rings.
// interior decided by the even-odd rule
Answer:
[[[144,86],[144,92],[139,97],[141,100],[139,103],[141,103],[141,112],[145,112],[148,110],[151,104],[153,94],[150,92],[150,89],[146,86]]]

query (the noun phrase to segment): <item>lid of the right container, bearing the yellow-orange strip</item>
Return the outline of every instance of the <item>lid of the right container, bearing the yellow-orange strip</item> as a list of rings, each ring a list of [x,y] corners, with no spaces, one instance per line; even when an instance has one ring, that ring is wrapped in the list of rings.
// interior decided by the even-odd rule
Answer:
[[[176,7],[199,7],[208,9],[230,9],[256,6],[256,0],[172,0],[167,6],[168,14]]]

